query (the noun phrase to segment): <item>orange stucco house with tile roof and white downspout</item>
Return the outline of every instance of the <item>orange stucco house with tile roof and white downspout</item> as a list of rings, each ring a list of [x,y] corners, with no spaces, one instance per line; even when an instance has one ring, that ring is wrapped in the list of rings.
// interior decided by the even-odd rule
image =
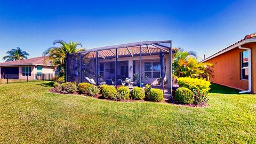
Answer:
[[[228,46],[202,62],[213,64],[211,82],[256,93],[256,33]]]

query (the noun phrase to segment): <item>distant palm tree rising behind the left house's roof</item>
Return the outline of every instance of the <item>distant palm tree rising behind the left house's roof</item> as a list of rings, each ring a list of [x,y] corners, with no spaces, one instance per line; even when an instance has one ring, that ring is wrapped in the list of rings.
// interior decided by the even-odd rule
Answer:
[[[6,52],[6,56],[3,57],[3,60],[7,61],[15,61],[15,60],[23,60],[27,59],[29,54],[25,51],[22,51],[20,47],[17,47],[17,49],[12,49],[11,51]]]

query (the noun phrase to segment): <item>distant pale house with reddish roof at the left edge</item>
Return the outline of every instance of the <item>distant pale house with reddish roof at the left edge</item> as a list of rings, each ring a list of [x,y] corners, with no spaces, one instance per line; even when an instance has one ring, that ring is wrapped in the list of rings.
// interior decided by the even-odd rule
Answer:
[[[34,80],[41,79],[43,76],[53,77],[54,69],[51,62],[45,62],[45,58],[37,57],[0,63],[0,78]]]

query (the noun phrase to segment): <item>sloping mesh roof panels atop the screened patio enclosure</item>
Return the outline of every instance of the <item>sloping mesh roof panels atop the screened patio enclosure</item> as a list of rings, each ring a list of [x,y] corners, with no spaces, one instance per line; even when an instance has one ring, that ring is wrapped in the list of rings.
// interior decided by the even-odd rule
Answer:
[[[169,45],[167,45],[169,43]],[[142,45],[153,45],[154,47],[157,47],[158,49],[166,49],[170,48],[171,40],[167,41],[142,41],[142,42],[135,42],[135,43],[127,43],[127,44],[118,44],[118,45],[110,45],[110,46],[103,46],[103,47],[97,47],[94,49],[88,49],[79,53],[84,52],[94,52],[94,51],[103,51],[103,50],[111,50],[111,49],[119,49],[124,47],[136,47],[136,46],[142,46]],[[166,50],[164,50],[166,51]]]

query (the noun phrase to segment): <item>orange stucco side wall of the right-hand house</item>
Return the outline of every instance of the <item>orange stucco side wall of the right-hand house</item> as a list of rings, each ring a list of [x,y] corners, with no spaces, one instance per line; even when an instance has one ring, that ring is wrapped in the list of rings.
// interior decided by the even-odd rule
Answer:
[[[211,78],[211,81],[235,89],[247,90],[248,81],[241,80],[240,52],[242,51],[244,50],[236,48],[206,61],[214,66],[214,78]]]

